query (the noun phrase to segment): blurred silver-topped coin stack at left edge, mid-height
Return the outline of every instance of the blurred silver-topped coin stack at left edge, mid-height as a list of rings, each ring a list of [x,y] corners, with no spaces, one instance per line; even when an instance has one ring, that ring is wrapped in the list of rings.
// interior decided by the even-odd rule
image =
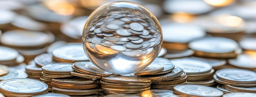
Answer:
[[[2,34],[0,42],[18,50],[25,57],[25,62],[28,63],[39,54],[45,53],[47,49],[45,46],[52,43],[54,39],[51,32],[10,30]]]

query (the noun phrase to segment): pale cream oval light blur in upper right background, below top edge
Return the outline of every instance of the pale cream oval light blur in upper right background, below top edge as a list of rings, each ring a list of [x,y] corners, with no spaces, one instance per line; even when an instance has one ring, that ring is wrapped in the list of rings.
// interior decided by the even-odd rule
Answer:
[[[220,15],[216,19],[220,24],[229,27],[239,27],[243,24],[242,18],[232,15]]]

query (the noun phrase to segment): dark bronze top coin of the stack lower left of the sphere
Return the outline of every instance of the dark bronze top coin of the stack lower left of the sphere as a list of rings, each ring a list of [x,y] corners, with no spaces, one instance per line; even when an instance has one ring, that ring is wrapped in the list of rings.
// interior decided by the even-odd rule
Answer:
[[[59,84],[70,84],[70,85],[85,85],[85,84],[97,84],[98,80],[92,80],[87,78],[70,77],[70,78],[53,78],[52,82]]]

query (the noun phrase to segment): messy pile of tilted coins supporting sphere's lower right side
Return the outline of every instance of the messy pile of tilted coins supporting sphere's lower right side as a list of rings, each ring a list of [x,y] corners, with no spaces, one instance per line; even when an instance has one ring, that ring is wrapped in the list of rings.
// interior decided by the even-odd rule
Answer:
[[[156,58],[145,69],[135,73],[152,81],[151,88],[172,89],[177,84],[186,84],[186,73],[166,58]]]

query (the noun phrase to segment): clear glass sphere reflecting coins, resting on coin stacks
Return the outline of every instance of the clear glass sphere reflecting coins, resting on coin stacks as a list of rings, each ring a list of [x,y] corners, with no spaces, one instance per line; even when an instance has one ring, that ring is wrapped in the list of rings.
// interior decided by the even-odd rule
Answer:
[[[155,60],[162,46],[162,30],[144,6],[111,2],[88,17],[82,42],[94,65],[114,74],[129,74]]]

